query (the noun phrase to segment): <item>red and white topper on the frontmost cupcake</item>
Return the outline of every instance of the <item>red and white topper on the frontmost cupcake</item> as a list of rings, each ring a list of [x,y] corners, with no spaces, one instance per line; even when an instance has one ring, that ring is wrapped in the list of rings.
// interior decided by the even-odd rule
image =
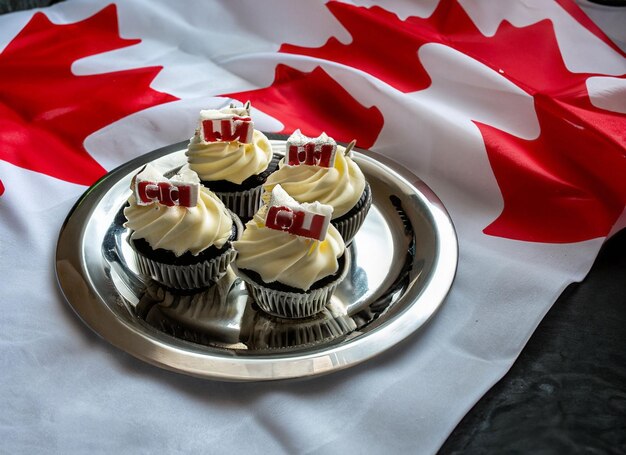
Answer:
[[[265,226],[300,237],[324,240],[333,214],[330,205],[299,203],[280,186],[272,190]]]

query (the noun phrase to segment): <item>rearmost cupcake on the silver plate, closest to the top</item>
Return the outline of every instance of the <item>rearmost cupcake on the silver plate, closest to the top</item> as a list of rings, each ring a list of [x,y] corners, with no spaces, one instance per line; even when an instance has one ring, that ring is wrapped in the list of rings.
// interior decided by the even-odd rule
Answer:
[[[278,167],[269,140],[254,129],[249,102],[200,111],[186,155],[202,185],[243,220],[259,209],[262,185]]]

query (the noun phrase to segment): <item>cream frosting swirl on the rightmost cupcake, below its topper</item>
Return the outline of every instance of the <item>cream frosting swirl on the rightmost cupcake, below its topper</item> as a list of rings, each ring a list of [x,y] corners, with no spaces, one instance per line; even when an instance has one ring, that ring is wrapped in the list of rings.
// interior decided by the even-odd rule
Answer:
[[[365,189],[365,176],[348,156],[345,148],[337,146],[335,164],[321,166],[289,166],[284,160],[271,174],[263,189],[269,194],[280,184],[298,202],[321,202],[333,207],[333,218],[345,215],[359,201]]]

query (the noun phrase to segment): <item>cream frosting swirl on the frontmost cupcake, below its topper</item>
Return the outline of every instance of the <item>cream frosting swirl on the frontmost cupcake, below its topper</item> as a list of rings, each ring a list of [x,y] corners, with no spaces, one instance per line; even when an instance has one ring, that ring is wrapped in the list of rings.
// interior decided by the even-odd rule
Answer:
[[[258,273],[266,283],[278,281],[304,291],[337,272],[345,245],[334,226],[328,227],[323,241],[313,240],[266,228],[266,212],[263,206],[246,224],[241,239],[233,242],[237,267]]]

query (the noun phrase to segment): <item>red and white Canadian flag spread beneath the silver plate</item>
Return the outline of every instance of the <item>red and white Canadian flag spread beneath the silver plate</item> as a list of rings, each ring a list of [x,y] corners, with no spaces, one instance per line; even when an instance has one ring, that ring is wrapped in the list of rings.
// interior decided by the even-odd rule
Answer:
[[[435,452],[626,226],[625,54],[570,0],[67,0],[0,16],[0,92],[9,452]],[[457,277],[402,349],[216,385],[131,360],[67,309],[52,263],[76,199],[248,100],[256,129],[356,139],[442,199]]]

